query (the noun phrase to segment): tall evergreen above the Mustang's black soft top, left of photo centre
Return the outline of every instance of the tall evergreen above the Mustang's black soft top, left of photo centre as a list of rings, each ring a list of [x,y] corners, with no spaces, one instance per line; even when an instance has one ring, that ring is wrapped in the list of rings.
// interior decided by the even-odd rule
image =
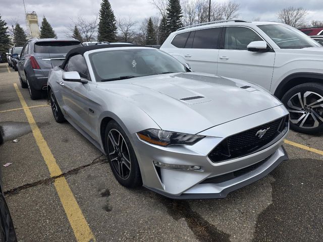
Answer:
[[[108,0],[102,0],[97,31],[98,41],[113,42],[117,36],[116,17]]]

